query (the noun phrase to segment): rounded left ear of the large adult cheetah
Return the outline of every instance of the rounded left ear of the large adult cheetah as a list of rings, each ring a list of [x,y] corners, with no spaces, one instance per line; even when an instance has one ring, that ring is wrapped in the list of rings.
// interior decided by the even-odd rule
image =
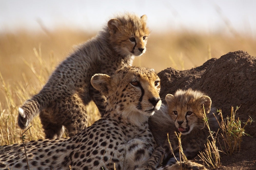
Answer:
[[[110,76],[106,74],[94,74],[91,78],[91,84],[102,95],[107,96],[110,87]]]

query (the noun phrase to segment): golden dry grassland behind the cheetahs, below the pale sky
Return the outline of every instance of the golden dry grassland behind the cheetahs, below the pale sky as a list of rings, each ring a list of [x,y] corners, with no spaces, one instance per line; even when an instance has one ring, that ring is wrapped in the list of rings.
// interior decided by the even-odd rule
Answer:
[[[74,45],[95,34],[75,29],[0,33],[0,145],[22,142],[19,137],[23,131],[17,126],[17,108],[41,89],[56,65],[72,52]],[[146,54],[137,57],[134,65],[154,68],[157,72],[168,67],[186,70],[230,51],[244,50],[256,56],[255,47],[255,38],[238,33],[152,31]],[[90,124],[99,119],[93,103],[88,112]],[[38,117],[32,125],[25,134],[25,141],[44,138]]]

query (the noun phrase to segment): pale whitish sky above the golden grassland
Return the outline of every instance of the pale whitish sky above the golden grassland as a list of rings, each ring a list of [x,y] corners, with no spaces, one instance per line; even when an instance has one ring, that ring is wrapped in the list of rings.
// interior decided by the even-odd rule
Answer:
[[[165,30],[229,31],[256,35],[254,0],[1,0],[0,31],[57,27],[98,31],[117,12],[148,16],[154,32]]]

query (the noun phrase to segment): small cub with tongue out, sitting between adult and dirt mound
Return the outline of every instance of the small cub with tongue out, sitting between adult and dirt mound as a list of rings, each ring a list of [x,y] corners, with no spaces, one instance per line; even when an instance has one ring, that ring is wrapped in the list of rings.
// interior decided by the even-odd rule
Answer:
[[[163,167],[176,163],[176,159],[170,152],[167,133],[178,161],[180,160],[178,139],[174,132],[182,134],[182,148],[188,160],[193,159],[199,151],[205,149],[209,130],[204,122],[204,109],[210,129],[217,131],[219,128],[218,121],[214,116],[216,109],[211,109],[210,97],[202,92],[179,89],[174,95],[167,94],[165,100],[168,107],[162,107],[149,120],[150,129],[159,147],[154,151],[151,160],[145,167],[158,166],[162,155],[164,155]]]

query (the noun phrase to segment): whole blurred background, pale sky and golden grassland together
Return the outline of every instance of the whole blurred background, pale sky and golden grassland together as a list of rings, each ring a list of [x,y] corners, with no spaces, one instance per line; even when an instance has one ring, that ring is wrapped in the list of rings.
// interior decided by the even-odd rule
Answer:
[[[198,67],[230,51],[256,56],[255,7],[254,0],[1,0],[0,142],[19,139],[17,107],[41,89],[73,46],[95,36],[115,14],[147,15],[147,51],[134,65],[159,72]]]

